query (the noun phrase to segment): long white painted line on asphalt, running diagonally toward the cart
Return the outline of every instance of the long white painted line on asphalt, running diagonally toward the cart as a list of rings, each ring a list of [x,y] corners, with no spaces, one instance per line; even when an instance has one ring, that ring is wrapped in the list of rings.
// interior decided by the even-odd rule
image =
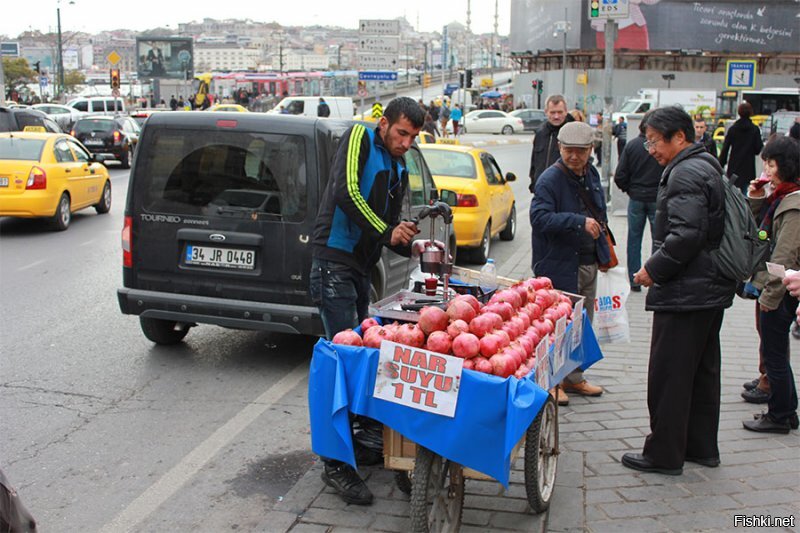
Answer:
[[[264,411],[280,400],[308,376],[308,362],[295,367],[280,381],[250,402],[233,418],[217,429],[210,437],[172,467],[167,473],[147,488],[131,502],[120,514],[101,529],[101,533],[120,533],[131,531],[144,521],[162,503],[197,474],[223,447],[236,438],[247,426],[253,423]]]

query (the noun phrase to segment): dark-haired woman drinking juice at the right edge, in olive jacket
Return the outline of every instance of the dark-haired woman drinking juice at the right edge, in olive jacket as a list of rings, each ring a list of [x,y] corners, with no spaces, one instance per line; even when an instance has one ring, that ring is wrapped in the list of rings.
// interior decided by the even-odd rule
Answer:
[[[773,243],[770,262],[800,270],[800,144],[789,137],[775,137],[764,147],[761,158],[769,182],[750,182],[750,207]],[[766,271],[756,274],[753,285],[761,289],[760,354],[769,381],[769,410],[743,424],[750,431],[789,433],[798,427],[797,390],[789,362],[789,328],[797,298],[786,291],[780,278]]]

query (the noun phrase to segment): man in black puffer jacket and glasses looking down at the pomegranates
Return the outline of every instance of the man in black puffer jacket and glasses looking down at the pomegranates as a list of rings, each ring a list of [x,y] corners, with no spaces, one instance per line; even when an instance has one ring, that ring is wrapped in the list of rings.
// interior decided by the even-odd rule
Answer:
[[[684,461],[719,465],[719,330],[735,283],[717,272],[711,250],[724,231],[719,162],[694,143],[691,117],[679,107],[653,111],[645,147],[666,165],[656,199],[655,253],[636,273],[654,311],[647,375],[650,434],[642,453],[622,464],[679,475]]]

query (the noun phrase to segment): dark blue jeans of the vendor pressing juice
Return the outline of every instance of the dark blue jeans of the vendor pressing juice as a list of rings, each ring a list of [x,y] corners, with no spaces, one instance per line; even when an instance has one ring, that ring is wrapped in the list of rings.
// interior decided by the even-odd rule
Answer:
[[[355,328],[367,318],[369,289],[369,276],[347,265],[325,259],[311,261],[309,290],[311,299],[319,307],[328,340],[340,331]],[[382,449],[383,425],[365,416],[351,416],[351,425],[353,420],[359,427],[355,440],[367,448]],[[332,465],[339,463],[323,460]]]

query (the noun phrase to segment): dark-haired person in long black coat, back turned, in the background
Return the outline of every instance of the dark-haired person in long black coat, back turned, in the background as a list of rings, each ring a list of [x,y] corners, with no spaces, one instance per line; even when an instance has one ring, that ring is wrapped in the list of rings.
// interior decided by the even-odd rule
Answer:
[[[719,163],[723,167],[725,163],[728,164],[725,174],[732,180],[735,174],[736,179],[733,184],[747,194],[747,186],[756,179],[756,156],[761,152],[764,143],[761,140],[761,130],[750,120],[753,116],[753,106],[748,102],[742,102],[737,113],[739,120],[733,123],[725,135]],[[729,152],[730,159],[728,159]]]

